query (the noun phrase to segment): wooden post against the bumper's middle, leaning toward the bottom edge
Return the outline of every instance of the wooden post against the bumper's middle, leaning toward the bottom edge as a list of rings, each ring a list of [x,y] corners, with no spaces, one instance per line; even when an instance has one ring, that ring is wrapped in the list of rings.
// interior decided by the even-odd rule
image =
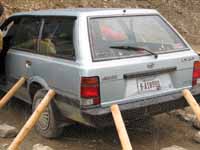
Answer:
[[[123,150],[132,150],[132,146],[126,131],[126,127],[124,125],[124,121],[121,116],[121,112],[119,110],[119,106],[114,104],[111,106],[112,116],[115,122],[115,126],[117,128],[117,132],[119,135],[119,139],[121,141],[122,149]]]

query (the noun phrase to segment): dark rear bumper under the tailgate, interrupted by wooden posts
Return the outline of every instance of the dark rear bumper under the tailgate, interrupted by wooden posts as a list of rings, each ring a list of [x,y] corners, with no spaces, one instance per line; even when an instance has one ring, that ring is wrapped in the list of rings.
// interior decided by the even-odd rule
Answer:
[[[194,87],[191,92],[200,103],[200,86]],[[119,105],[124,120],[138,120],[145,116],[168,112],[185,106],[188,106],[188,104],[181,92]],[[109,107],[82,110],[81,113],[93,126],[103,127],[113,124]]]

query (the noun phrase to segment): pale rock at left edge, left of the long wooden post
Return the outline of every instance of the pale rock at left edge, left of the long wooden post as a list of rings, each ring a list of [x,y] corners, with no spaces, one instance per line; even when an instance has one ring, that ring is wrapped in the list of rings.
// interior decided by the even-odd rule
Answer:
[[[17,135],[17,128],[7,125],[0,124],[0,137],[1,138],[13,138]]]

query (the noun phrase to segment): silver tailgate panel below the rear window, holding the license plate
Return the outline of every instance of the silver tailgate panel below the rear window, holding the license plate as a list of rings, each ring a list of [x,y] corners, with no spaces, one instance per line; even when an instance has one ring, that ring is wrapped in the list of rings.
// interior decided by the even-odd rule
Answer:
[[[192,51],[95,63],[100,77],[101,105],[129,103],[176,93],[192,86]]]

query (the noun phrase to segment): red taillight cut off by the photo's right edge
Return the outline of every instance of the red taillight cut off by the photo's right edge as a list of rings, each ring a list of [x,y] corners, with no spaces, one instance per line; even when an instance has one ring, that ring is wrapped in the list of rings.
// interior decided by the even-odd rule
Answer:
[[[192,86],[198,83],[200,83],[200,61],[195,61],[192,76]]]

